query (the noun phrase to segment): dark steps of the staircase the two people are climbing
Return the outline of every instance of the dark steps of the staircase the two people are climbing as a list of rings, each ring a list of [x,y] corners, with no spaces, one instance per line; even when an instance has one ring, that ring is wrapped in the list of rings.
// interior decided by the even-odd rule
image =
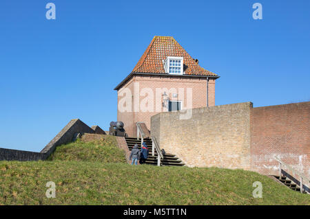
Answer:
[[[125,137],[127,147],[131,151],[134,148],[134,144],[138,144],[138,149],[141,149],[141,139],[136,139],[134,137]],[[149,157],[145,161],[145,163],[150,165],[157,165],[157,153],[155,150],[154,156],[152,156],[152,139],[143,139],[143,141],[147,144],[147,148],[149,148]],[[163,155],[163,159],[161,159],[161,165],[169,165],[169,166],[183,166],[185,165],[176,155],[166,153]]]

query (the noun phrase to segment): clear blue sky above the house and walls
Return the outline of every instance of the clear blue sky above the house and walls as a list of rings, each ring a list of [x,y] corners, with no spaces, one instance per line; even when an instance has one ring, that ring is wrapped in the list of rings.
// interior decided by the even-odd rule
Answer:
[[[45,5],[56,5],[56,20]],[[252,5],[262,3],[262,20]],[[40,151],[79,118],[107,130],[114,87],[152,38],[174,36],[218,73],[216,105],[309,101],[310,1],[0,3],[0,147]]]

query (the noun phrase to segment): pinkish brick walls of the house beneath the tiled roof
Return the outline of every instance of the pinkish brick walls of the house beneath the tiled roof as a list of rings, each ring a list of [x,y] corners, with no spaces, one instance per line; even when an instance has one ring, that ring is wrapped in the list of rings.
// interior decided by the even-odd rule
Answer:
[[[134,91],[134,83],[138,83],[139,92]],[[151,117],[152,115],[158,114],[156,112],[156,88],[167,88],[184,89],[184,96],[178,93],[178,97],[172,97],[172,93],[169,93],[170,100],[180,100],[183,102],[183,108],[187,108],[187,89],[192,89],[192,107],[199,108],[207,106],[207,79],[206,78],[180,78],[177,76],[134,76],[130,81],[128,81],[119,91],[118,91],[118,102],[124,96],[120,96],[123,89],[128,88],[132,93],[132,108],[131,112],[121,112],[118,108],[117,120],[122,121],[125,124],[125,131],[128,136],[136,137],[136,122],[144,122],[147,128],[151,128]],[[153,112],[134,112],[134,102],[138,101],[139,104],[145,98],[141,96],[141,90],[143,88],[149,88],[154,93],[154,111]],[[215,80],[209,80],[209,106],[214,106],[215,104]],[[140,97],[139,94],[140,93]],[[138,100],[139,99],[139,100]],[[167,108],[163,107],[163,97],[161,97],[161,102],[159,103],[161,111],[167,111]]]

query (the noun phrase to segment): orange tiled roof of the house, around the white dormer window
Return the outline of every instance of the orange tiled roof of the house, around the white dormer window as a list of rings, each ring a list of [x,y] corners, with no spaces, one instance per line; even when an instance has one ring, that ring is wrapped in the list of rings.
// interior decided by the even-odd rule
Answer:
[[[203,69],[172,36],[154,36],[132,73],[165,73],[163,60],[167,56],[182,56],[185,75],[217,76]]]

